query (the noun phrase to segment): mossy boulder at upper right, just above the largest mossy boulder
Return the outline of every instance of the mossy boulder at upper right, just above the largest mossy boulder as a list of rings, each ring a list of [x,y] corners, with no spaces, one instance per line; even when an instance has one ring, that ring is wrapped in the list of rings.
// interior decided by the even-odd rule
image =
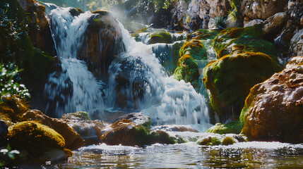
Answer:
[[[262,27],[263,25],[254,25],[222,30],[212,42],[218,58],[244,52],[262,52],[275,56],[275,46],[263,39]]]

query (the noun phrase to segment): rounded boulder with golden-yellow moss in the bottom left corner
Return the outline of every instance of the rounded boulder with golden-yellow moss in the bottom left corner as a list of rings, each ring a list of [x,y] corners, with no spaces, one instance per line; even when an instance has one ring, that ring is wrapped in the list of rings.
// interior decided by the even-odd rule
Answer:
[[[9,130],[7,138],[13,149],[25,150],[27,159],[32,161],[59,160],[72,154],[64,148],[65,140],[61,134],[33,121],[17,123]]]

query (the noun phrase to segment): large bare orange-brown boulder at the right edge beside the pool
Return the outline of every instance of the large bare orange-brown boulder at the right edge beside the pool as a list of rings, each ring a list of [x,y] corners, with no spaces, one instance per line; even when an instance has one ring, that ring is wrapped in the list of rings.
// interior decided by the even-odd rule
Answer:
[[[242,132],[251,140],[303,142],[303,57],[251,88]]]

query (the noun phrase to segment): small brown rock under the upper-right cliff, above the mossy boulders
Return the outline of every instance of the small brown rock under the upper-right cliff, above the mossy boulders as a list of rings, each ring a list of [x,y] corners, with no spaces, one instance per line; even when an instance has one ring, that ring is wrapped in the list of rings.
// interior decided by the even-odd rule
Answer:
[[[287,21],[286,13],[275,13],[266,20],[266,24],[262,29],[264,37],[267,39],[275,38],[278,33],[283,29]]]

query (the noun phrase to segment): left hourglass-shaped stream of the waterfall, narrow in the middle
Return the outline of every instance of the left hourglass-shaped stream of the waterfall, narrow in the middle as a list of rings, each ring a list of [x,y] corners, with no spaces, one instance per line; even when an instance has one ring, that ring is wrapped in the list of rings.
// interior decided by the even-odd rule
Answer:
[[[45,84],[46,113],[61,117],[63,113],[87,111],[98,117],[104,107],[100,86],[86,63],[76,58],[88,18],[93,14],[85,12],[73,17],[69,10],[55,8],[49,13],[61,69],[50,74]]]

